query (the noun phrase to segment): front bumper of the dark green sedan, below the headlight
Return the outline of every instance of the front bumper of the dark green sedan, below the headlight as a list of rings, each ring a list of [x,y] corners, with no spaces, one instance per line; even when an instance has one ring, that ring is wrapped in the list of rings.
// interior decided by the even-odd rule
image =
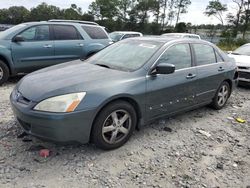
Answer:
[[[72,113],[39,112],[32,110],[34,103],[25,104],[13,93],[10,96],[12,110],[27,134],[55,142],[89,142],[95,109]]]

